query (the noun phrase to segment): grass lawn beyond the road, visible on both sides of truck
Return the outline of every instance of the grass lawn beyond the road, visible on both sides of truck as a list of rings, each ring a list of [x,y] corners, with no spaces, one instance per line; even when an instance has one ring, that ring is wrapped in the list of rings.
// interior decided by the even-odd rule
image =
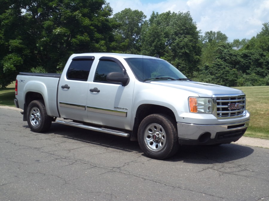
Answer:
[[[244,136],[269,140],[269,86],[236,87],[247,96],[246,109],[250,111],[250,126]],[[15,107],[15,82],[0,89],[0,105]]]

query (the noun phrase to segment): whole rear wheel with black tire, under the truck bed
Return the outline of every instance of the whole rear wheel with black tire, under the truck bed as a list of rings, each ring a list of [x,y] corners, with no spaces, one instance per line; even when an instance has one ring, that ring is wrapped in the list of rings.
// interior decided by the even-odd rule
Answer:
[[[45,132],[51,127],[52,117],[48,116],[42,100],[34,100],[27,107],[27,123],[36,133]]]

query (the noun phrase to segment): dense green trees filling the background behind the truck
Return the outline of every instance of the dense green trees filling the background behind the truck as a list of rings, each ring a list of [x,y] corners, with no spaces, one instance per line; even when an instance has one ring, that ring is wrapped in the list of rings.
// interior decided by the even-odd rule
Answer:
[[[251,39],[201,35],[189,12],[126,8],[111,18],[105,0],[0,0],[0,87],[16,74],[61,72],[73,53],[159,56],[195,81],[269,85],[269,22]]]

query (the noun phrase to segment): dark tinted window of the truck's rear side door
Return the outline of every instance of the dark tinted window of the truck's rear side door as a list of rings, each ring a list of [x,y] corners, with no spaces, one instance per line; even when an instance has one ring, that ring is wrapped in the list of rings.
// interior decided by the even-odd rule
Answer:
[[[68,68],[66,77],[69,80],[87,81],[93,60],[73,60]]]

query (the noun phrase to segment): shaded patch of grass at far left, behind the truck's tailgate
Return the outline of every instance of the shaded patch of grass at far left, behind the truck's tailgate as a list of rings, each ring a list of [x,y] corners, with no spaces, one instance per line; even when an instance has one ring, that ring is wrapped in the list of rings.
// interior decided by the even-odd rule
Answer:
[[[0,105],[8,105],[11,107],[15,107],[14,98],[15,98],[15,82],[8,85],[7,88],[0,89]]]

